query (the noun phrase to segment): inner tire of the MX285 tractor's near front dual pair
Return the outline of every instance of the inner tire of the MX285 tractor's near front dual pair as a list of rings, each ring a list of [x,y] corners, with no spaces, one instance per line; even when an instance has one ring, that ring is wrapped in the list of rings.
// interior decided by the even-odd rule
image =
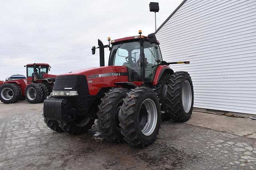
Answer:
[[[99,129],[106,140],[110,142],[123,142],[124,136],[120,132],[119,114],[123,104],[122,99],[129,93],[128,89],[111,89],[101,99],[97,112]]]

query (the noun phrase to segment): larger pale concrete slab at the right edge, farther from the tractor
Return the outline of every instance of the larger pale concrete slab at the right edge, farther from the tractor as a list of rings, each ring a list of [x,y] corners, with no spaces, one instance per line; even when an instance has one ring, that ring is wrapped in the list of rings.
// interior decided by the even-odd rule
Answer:
[[[256,121],[236,117],[224,117],[223,119],[209,121],[206,123],[198,123],[195,125],[241,136],[246,136],[256,132]]]

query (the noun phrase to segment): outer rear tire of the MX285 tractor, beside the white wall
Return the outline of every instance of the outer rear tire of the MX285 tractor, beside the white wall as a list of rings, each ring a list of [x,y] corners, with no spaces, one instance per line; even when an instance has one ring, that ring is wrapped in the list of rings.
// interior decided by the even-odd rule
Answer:
[[[176,122],[190,119],[194,105],[194,90],[190,75],[178,71],[171,75],[167,89],[168,113]]]

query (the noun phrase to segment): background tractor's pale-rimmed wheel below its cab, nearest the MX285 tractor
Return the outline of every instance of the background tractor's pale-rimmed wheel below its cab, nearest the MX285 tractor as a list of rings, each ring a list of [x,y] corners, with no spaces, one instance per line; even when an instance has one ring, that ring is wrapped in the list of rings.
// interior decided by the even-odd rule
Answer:
[[[29,103],[40,103],[43,92],[38,83],[31,83],[25,89],[25,97]]]

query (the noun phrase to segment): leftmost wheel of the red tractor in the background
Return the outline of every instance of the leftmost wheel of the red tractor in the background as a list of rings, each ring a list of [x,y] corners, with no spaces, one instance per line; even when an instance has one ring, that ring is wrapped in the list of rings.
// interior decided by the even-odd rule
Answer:
[[[0,100],[3,103],[16,103],[20,98],[20,87],[12,83],[4,83],[0,86]]]

